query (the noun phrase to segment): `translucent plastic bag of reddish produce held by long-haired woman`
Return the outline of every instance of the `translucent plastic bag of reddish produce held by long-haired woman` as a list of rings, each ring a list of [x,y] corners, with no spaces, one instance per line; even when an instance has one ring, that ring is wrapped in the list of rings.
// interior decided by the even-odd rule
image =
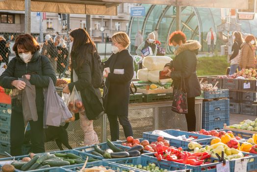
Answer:
[[[85,111],[85,107],[82,103],[82,98],[80,92],[77,91],[76,86],[74,86],[70,100],[68,102],[68,109],[72,114],[77,114]]]

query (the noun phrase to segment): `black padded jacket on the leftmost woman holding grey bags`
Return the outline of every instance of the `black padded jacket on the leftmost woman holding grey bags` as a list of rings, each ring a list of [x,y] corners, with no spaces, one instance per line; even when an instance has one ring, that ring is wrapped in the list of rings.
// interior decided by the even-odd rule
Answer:
[[[31,60],[25,63],[18,55],[11,59],[7,69],[0,76],[0,86],[15,88],[12,81],[22,78],[23,75],[31,74],[30,83],[36,86],[37,112],[44,111],[43,87],[48,87],[50,78],[56,83],[56,76],[48,57],[41,56],[39,52],[33,54]],[[15,108],[15,107],[12,107]]]

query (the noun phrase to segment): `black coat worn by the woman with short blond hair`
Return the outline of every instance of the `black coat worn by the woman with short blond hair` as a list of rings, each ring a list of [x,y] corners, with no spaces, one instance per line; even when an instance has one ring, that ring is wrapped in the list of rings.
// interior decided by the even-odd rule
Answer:
[[[105,81],[103,106],[108,115],[128,115],[129,86],[134,75],[133,57],[128,50],[112,54],[104,67],[110,68]],[[124,74],[114,74],[114,69],[124,69]]]

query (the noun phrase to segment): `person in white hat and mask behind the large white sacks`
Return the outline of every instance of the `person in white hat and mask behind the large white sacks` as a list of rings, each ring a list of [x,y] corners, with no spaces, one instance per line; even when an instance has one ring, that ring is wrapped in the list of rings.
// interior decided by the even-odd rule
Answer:
[[[150,47],[152,49],[152,52],[153,52],[152,56],[156,56],[157,48],[156,48],[156,45],[155,45],[154,32],[149,33],[149,35],[147,36],[147,39],[139,45],[139,47],[136,49],[136,54],[138,56],[141,56],[141,57],[144,58],[145,56],[143,55],[142,50],[144,50],[147,47]],[[139,63],[138,69],[142,69],[142,68],[143,68],[143,65],[142,65],[142,62],[141,62],[141,63]]]

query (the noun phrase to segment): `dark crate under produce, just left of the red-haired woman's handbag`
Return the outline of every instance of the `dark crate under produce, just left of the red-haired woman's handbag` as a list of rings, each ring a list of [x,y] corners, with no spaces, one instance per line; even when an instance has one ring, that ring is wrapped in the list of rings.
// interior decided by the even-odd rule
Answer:
[[[172,100],[173,93],[143,94],[143,102],[158,102]]]

